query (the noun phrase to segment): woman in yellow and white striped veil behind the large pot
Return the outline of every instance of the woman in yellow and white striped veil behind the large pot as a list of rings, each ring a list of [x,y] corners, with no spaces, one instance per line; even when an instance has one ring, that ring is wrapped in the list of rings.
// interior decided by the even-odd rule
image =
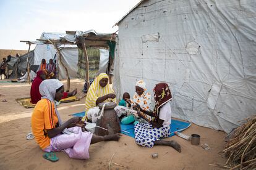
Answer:
[[[84,119],[89,119],[90,121],[95,120],[95,116],[97,115],[94,110],[99,103],[111,101],[116,103],[116,95],[113,93],[114,90],[108,83],[108,75],[106,73],[100,73],[88,89],[87,97],[85,99]]]

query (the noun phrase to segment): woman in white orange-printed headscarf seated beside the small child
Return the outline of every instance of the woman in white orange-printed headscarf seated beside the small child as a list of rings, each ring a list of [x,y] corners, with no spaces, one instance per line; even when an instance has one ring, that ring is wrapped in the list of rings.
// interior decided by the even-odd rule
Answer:
[[[136,105],[136,103],[138,103],[140,105],[140,108],[142,108],[143,110],[148,111],[150,109],[151,95],[149,92],[145,91],[147,91],[146,83],[143,80],[137,81],[137,83],[135,84],[134,97],[132,98],[132,100],[126,100],[126,102],[129,103],[129,105],[127,105],[127,108],[122,106],[117,106],[116,108],[114,108],[119,118],[128,115],[125,118],[122,118],[122,124],[130,124],[133,123],[135,119],[137,119],[134,116],[137,115],[137,111],[131,110]],[[150,116],[145,116],[148,119],[151,119]]]

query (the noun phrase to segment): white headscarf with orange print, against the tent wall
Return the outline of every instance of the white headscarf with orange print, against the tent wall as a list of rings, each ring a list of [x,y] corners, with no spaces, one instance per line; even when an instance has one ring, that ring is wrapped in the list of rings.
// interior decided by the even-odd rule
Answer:
[[[147,90],[146,83],[143,80],[140,80],[137,81],[135,86],[141,87],[143,89],[143,93],[142,95],[139,95],[135,92],[132,101],[138,103],[143,110],[149,110],[151,105],[151,95],[148,92],[145,92]]]

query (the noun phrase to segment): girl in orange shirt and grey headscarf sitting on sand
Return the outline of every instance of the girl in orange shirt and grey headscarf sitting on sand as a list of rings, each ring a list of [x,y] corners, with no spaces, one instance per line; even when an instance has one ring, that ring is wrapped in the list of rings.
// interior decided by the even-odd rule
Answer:
[[[88,159],[90,144],[103,140],[119,140],[119,134],[96,136],[82,132],[81,118],[74,117],[62,123],[54,100],[61,100],[64,86],[58,79],[46,79],[39,87],[42,99],[32,114],[32,132],[36,142],[45,152],[64,150],[70,158]]]

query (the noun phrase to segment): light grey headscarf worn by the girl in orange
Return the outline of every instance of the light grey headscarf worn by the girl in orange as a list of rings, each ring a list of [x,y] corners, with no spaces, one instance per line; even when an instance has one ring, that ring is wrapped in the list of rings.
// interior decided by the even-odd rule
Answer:
[[[41,99],[48,99],[54,103],[55,113],[58,116],[59,125],[62,124],[61,116],[59,116],[59,111],[54,102],[56,90],[59,89],[63,84],[58,79],[46,79],[39,86],[39,91],[41,94]]]

